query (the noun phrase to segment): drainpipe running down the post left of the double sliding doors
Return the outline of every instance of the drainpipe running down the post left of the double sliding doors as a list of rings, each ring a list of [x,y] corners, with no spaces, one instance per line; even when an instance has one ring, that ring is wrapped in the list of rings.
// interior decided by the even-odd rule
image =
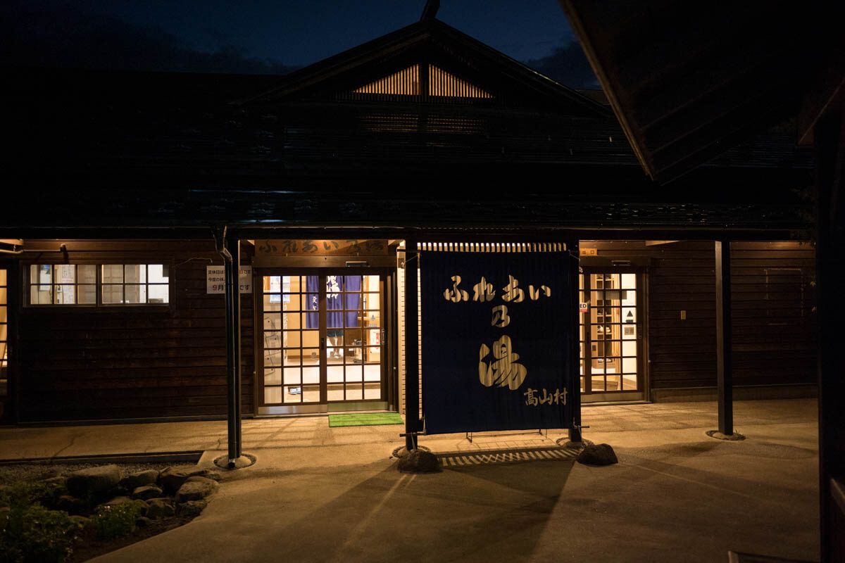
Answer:
[[[219,227],[212,227],[217,252],[223,257],[224,264],[224,294],[226,295],[226,394],[228,397],[227,421],[228,421],[228,443],[229,462],[228,467],[237,467],[237,460],[242,456],[241,452],[241,299],[240,288],[237,283],[237,274],[241,265],[240,244],[235,241],[226,241],[226,226],[221,230]],[[229,247],[234,244],[235,256],[229,252]],[[237,270],[236,268],[237,263]]]

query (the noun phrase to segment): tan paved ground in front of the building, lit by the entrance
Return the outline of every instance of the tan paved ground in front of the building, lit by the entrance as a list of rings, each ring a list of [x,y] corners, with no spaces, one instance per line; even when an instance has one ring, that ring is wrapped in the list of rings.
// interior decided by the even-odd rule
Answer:
[[[619,464],[395,469],[400,426],[248,420],[259,462],[226,475],[183,528],[102,561],[726,561],[728,549],[818,560],[814,400],[735,404],[745,441],[707,437],[715,403],[586,407]],[[0,429],[0,458],[226,447],[223,422]],[[425,436],[435,452],[551,446],[565,435]],[[221,453],[221,452],[219,452]],[[206,457],[213,457],[209,452]]]

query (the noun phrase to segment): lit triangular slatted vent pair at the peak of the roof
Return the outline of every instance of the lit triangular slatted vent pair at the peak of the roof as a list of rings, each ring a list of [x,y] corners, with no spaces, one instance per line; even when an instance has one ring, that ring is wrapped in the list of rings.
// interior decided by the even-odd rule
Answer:
[[[419,95],[419,65],[405,68],[398,73],[379,78],[360,88],[353,94]],[[447,73],[442,68],[428,65],[428,95],[449,98],[493,98],[485,90],[466,80]]]

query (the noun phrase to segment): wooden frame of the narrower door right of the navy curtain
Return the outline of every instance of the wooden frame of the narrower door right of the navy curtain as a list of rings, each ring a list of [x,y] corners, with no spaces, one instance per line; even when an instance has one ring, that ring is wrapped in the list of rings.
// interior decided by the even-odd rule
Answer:
[[[650,381],[648,374],[648,295],[646,290],[647,284],[647,268],[638,265],[613,265],[592,263],[581,266],[579,276],[584,276],[584,293],[587,302],[590,302],[590,275],[596,273],[634,273],[636,275],[636,311],[637,311],[637,389],[636,390],[620,390],[620,391],[591,391],[591,333],[590,333],[590,312],[587,312],[587,323],[584,326],[584,390],[581,391],[581,403],[599,403],[599,402],[614,402],[614,401],[646,401],[649,400],[651,393],[649,392]],[[576,289],[581,292],[581,289]],[[579,327],[579,333],[581,327]],[[580,335],[579,335],[580,336]],[[579,338],[580,339],[580,338]],[[580,359],[579,359],[580,360]],[[579,374],[578,385],[581,375]]]

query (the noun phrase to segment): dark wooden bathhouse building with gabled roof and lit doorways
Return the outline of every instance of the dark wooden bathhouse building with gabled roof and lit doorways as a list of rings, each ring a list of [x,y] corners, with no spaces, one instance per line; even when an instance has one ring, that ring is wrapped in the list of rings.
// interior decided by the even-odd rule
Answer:
[[[245,414],[406,409],[409,244],[577,252],[590,402],[715,398],[733,241],[735,396],[815,392],[788,123],[658,186],[600,95],[436,19],[282,78],[8,73],[7,420],[229,412],[224,232],[248,270]]]

